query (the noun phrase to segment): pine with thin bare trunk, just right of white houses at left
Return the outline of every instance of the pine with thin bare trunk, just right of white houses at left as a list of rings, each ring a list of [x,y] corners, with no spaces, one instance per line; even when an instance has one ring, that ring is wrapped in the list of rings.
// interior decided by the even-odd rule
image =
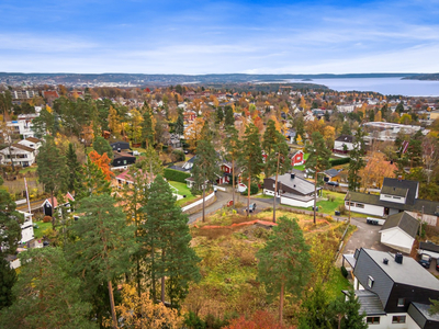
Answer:
[[[38,164],[36,172],[38,181],[43,183],[44,190],[50,193],[52,204],[52,228],[55,230],[54,195],[58,191],[65,191],[67,182],[66,158],[61,156],[52,136],[46,136],[36,157]]]

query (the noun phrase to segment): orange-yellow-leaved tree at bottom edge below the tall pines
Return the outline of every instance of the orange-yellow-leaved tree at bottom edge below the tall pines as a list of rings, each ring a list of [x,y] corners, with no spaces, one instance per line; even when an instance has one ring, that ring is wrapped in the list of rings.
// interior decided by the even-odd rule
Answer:
[[[155,304],[148,293],[138,296],[136,288],[127,284],[122,288],[122,303],[115,309],[124,327],[132,329],[177,329],[181,328],[183,321],[177,309],[161,303]],[[105,326],[112,327],[111,318],[105,319]]]

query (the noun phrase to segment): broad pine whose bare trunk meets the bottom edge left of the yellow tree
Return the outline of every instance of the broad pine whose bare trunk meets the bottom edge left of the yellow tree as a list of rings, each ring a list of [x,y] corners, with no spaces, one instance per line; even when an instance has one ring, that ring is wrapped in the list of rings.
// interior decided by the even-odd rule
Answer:
[[[113,327],[117,328],[112,281],[130,270],[130,257],[137,249],[134,227],[126,225],[125,214],[109,194],[81,200],[78,213],[83,216],[71,226],[78,237],[70,251],[74,269],[86,281],[106,283]]]

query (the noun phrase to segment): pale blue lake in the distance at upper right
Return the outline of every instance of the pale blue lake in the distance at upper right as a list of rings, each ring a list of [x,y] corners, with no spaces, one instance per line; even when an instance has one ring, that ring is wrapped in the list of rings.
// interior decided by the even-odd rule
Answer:
[[[439,81],[401,80],[401,78],[346,78],[313,79],[312,81],[294,79],[289,82],[324,84],[337,91],[357,90],[406,97],[439,97]]]

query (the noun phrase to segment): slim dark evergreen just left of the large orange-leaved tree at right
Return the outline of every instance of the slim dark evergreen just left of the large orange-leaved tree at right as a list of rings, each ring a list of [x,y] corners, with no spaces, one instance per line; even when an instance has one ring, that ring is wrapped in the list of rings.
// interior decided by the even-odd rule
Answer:
[[[349,152],[349,171],[348,181],[349,190],[356,192],[360,189],[361,177],[360,170],[365,167],[365,161],[363,159],[365,155],[365,143],[364,143],[364,132],[361,127],[357,128],[357,133],[353,139],[353,148]]]

